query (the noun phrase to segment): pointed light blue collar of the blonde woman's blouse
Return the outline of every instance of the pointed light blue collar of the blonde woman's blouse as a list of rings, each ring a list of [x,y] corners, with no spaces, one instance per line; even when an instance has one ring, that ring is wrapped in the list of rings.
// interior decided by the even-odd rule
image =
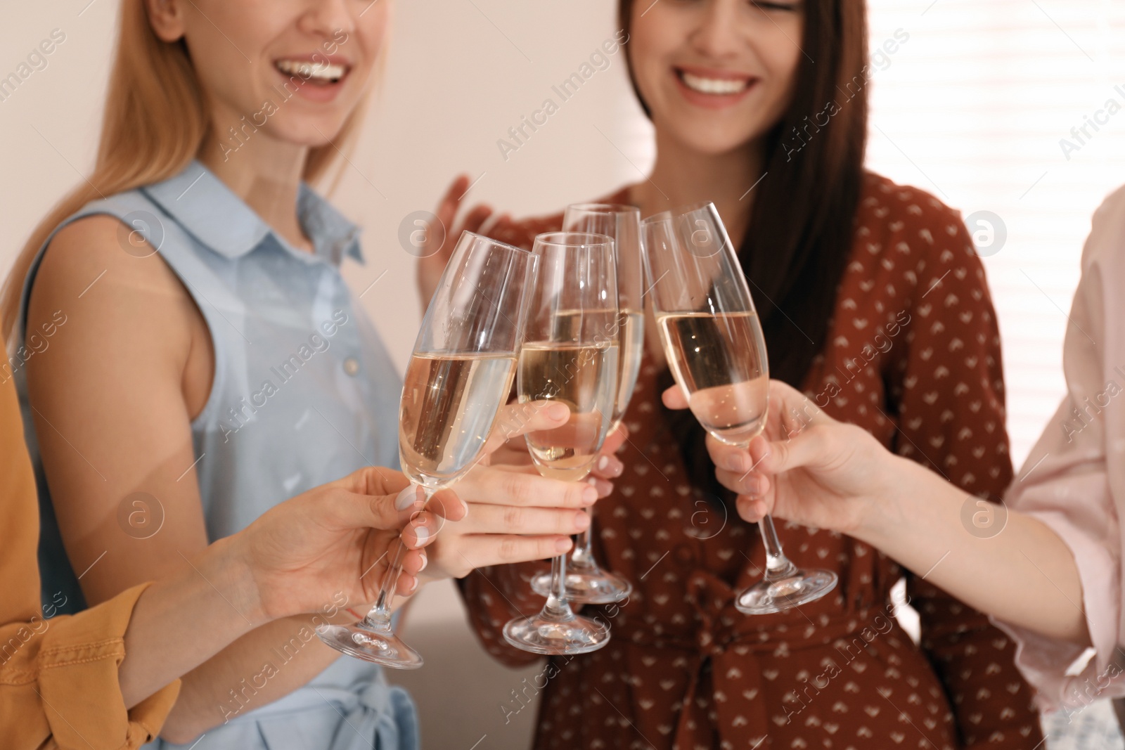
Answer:
[[[197,160],[163,182],[142,188],[178,224],[212,251],[230,259],[258,247],[267,236],[304,260],[312,256],[294,249],[215,173]],[[302,182],[297,193],[297,220],[313,243],[315,255],[339,265],[346,254],[362,263],[359,227],[328,201]]]

